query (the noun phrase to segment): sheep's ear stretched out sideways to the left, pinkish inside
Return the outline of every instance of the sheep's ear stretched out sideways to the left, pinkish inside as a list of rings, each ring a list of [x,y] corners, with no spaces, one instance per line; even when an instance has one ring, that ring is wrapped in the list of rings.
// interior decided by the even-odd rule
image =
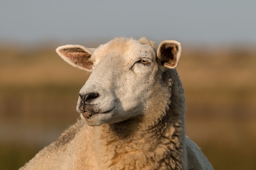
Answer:
[[[92,71],[93,63],[90,60],[95,49],[85,48],[81,45],[65,45],[56,49],[58,55],[68,64],[86,70]]]

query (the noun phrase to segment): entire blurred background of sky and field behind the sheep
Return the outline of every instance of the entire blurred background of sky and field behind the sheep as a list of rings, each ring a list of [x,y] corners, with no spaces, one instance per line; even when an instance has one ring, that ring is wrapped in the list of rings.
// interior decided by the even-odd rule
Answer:
[[[0,169],[16,170],[76,122],[90,75],[58,46],[119,36],[182,43],[186,133],[216,170],[256,169],[256,1],[0,1]]]

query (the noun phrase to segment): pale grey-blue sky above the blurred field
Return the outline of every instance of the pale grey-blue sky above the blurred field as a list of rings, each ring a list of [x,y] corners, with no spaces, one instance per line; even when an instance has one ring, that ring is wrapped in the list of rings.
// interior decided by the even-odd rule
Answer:
[[[1,0],[0,42],[110,40],[256,44],[256,0]]]

